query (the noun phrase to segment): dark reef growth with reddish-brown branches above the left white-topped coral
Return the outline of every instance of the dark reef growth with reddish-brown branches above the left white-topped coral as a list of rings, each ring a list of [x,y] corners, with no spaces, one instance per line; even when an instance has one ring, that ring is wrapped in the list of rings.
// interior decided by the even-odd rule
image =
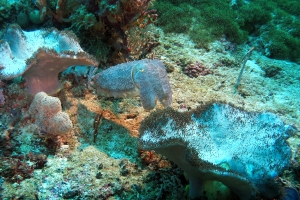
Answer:
[[[139,43],[135,34],[153,23],[157,14],[150,9],[151,1],[109,1],[109,0],[37,0],[24,1],[16,6],[9,1],[1,1],[0,27],[17,23],[25,30],[55,27],[59,30],[72,30],[82,47],[92,53],[100,62],[114,64],[145,56],[157,46],[157,42],[147,34],[144,40],[150,44]],[[11,18],[10,15],[17,15]],[[131,34],[127,33],[134,30]]]

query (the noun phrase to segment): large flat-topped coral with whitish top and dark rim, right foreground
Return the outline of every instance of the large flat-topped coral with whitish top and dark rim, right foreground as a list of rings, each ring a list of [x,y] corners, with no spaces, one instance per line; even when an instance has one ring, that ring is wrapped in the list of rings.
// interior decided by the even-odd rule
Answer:
[[[155,150],[188,175],[190,196],[219,181],[240,199],[277,197],[274,178],[290,166],[287,138],[296,133],[273,113],[213,103],[191,112],[152,112],[140,126],[141,149]]]

